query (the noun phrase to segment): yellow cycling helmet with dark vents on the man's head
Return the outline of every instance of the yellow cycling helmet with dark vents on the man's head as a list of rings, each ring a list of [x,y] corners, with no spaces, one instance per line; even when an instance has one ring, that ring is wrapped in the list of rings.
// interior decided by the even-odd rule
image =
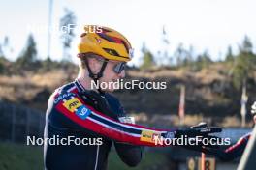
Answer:
[[[131,43],[119,32],[103,26],[84,26],[78,48],[79,54],[95,53],[107,60],[128,62],[133,56]]]

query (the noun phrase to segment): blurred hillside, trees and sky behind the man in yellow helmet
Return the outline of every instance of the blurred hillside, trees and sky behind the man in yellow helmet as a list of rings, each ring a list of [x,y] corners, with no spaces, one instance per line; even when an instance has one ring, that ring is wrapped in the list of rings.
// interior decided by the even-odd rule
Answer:
[[[2,1],[0,169],[43,168],[43,148],[25,146],[26,136],[43,136],[49,95],[76,78],[77,42],[88,24],[130,40],[135,58],[128,81],[167,82],[165,90],[114,92],[138,124],[178,128],[205,121],[236,142],[253,126],[255,6],[253,0]],[[200,156],[171,147],[144,153],[132,169],[189,169]],[[211,169],[235,169],[239,160],[209,162]],[[114,151],[109,166],[131,169]]]

